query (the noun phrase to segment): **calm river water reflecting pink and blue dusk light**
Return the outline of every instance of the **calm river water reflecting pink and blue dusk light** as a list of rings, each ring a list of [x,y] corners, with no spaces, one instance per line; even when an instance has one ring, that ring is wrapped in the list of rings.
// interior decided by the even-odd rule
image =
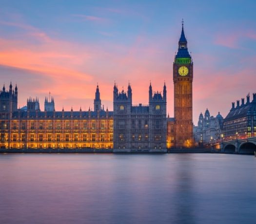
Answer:
[[[0,224],[255,224],[256,158],[0,154]]]

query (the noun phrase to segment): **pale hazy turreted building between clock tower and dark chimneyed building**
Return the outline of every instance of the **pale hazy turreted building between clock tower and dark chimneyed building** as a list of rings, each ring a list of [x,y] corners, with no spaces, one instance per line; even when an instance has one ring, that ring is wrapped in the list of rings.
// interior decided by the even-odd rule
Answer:
[[[223,117],[218,112],[217,116],[210,116],[206,109],[204,116],[199,115],[197,126],[194,126],[195,142],[198,144],[213,144],[221,139]]]

